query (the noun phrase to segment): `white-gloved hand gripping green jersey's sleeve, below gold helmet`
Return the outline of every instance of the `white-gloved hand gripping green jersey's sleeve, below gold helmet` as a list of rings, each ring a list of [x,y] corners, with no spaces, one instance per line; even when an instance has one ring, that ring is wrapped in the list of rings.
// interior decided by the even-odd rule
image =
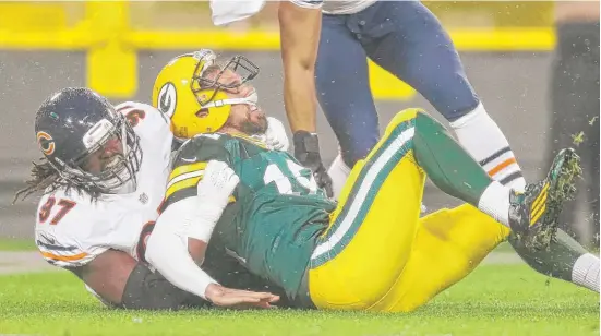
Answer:
[[[211,203],[223,209],[239,182],[240,178],[226,163],[211,160],[196,185],[199,200],[201,203]]]

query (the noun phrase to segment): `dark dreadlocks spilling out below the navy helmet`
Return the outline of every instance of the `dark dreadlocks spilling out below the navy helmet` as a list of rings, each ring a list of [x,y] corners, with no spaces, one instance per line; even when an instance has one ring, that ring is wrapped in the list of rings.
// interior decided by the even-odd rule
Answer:
[[[32,161],[34,165],[32,167],[32,178],[25,181],[26,187],[19,190],[14,194],[12,204],[15,204],[17,201],[24,201],[31,194],[34,194],[39,191],[52,192],[58,188],[64,187],[67,192],[71,189],[75,189],[80,194],[87,193],[93,201],[97,200],[101,192],[99,189],[88,185],[77,185],[68,179],[64,179],[60,173],[50,165],[50,163],[45,158],[38,159],[39,164]],[[21,197],[21,200],[19,200]]]

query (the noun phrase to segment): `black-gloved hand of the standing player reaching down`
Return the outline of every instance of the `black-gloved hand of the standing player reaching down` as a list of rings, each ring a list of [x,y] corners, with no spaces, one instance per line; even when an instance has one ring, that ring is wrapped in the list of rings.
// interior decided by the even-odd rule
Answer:
[[[306,168],[313,171],[317,187],[325,190],[328,197],[334,196],[332,178],[322,163],[320,155],[320,141],[317,134],[306,131],[297,131],[293,136],[295,157]]]

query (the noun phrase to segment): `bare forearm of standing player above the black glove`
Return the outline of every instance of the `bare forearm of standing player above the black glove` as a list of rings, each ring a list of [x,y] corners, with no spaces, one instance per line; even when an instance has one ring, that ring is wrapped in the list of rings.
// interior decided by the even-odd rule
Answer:
[[[316,131],[315,61],[321,34],[320,9],[279,5],[284,101],[292,132]]]

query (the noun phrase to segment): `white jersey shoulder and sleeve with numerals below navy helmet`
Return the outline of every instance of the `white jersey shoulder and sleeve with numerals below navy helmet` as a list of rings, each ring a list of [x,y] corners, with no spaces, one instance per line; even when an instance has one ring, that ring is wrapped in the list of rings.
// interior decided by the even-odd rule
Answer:
[[[137,206],[135,202],[135,194],[96,201],[76,191],[46,194],[36,214],[36,245],[44,259],[58,267],[86,265],[109,249],[139,259],[136,248],[157,213],[154,205]]]

